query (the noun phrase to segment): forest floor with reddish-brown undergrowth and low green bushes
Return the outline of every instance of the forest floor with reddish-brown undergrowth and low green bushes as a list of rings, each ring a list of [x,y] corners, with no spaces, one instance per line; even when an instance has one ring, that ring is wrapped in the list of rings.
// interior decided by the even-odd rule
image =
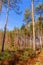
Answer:
[[[43,65],[43,50],[19,50],[0,53],[0,65]]]

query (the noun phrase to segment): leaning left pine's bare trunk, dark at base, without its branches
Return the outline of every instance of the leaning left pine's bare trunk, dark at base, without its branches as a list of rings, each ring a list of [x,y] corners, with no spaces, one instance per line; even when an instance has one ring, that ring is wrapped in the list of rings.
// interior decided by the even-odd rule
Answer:
[[[5,20],[5,27],[4,27],[4,34],[3,34],[3,42],[2,42],[2,52],[4,51],[4,43],[5,43],[5,37],[6,37],[6,29],[7,29],[7,23],[8,23],[8,14],[9,14],[9,4],[10,0],[8,0],[8,7],[6,12],[6,20]]]

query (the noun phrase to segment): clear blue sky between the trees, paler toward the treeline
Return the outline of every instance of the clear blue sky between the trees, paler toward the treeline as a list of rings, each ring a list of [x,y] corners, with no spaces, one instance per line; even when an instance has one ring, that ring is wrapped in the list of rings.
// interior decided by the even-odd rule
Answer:
[[[37,3],[35,3],[36,6]],[[23,4],[21,4],[20,9],[22,11],[21,15],[16,14],[13,10],[9,12],[9,18],[8,18],[8,30],[13,30],[15,27],[20,28],[24,22],[24,11],[26,8],[31,9],[31,0],[23,0]],[[0,15],[0,29],[4,29],[5,25],[5,18],[6,18],[6,9],[2,8],[2,13]]]

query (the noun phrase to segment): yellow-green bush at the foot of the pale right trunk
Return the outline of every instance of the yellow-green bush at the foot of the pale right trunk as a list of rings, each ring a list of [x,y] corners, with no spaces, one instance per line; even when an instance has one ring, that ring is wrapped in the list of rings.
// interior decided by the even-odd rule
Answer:
[[[32,49],[26,48],[20,57],[21,60],[27,60],[28,58],[32,59],[36,57],[35,52]]]

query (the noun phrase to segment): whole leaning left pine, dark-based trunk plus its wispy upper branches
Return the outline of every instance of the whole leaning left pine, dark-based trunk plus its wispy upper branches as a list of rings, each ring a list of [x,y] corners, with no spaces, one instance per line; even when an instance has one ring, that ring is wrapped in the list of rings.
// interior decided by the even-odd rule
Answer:
[[[8,15],[9,15],[9,11],[11,9],[13,9],[17,14],[20,14],[20,10],[19,10],[19,4],[20,0],[0,0],[1,6],[0,6],[0,11],[2,9],[2,5],[5,5],[5,7],[7,8],[7,12],[6,12],[6,20],[5,20],[5,27],[4,27],[4,35],[3,35],[3,42],[2,42],[2,52],[4,51],[4,43],[5,43],[5,35],[6,35],[6,29],[7,29],[7,23],[8,23]]]

